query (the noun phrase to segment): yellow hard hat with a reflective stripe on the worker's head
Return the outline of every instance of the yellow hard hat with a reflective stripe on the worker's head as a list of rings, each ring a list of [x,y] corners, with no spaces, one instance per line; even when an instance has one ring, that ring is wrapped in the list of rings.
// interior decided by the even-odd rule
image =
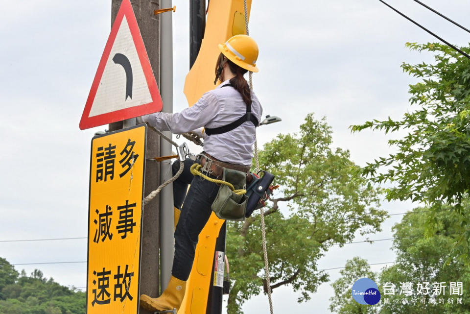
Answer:
[[[258,45],[247,35],[235,35],[225,44],[219,44],[220,52],[240,68],[251,72],[258,72],[256,59],[258,59]]]

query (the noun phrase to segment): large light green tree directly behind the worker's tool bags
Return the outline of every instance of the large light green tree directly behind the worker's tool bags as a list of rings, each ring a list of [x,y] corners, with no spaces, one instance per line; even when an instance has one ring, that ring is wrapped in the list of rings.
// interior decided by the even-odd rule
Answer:
[[[308,115],[298,133],[267,143],[259,160],[281,185],[264,212],[271,289],[290,285],[302,302],[328,281],[317,268],[318,259],[332,245],[351,241],[355,232],[380,230],[386,213],[376,208],[378,192],[360,176],[349,151],[331,148],[325,119]],[[235,314],[252,295],[267,292],[259,211],[244,222],[229,223],[227,233],[233,284],[228,313]]]

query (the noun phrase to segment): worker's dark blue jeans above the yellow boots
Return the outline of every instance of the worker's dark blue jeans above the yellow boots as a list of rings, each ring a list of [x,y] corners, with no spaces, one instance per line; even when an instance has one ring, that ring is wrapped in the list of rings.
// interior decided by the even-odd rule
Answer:
[[[183,173],[173,182],[173,202],[175,207],[181,209],[181,215],[175,230],[175,257],[171,274],[184,281],[188,280],[199,233],[211,216],[211,205],[219,190],[217,184],[192,175],[189,168],[193,164],[192,160],[187,159]],[[173,175],[179,167],[179,161],[173,163]],[[191,186],[186,193],[188,184]]]

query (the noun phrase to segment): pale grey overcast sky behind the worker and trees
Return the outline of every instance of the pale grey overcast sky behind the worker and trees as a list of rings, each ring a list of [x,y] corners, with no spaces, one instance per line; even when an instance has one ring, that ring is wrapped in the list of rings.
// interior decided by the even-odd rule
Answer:
[[[412,0],[392,5],[451,43],[467,46],[470,34]],[[465,0],[426,0],[426,4],[466,24]],[[187,107],[183,94],[188,72],[188,1],[174,0],[174,111]],[[250,35],[259,46],[254,90],[265,114],[282,122],[260,127],[266,143],[278,133],[295,132],[305,115],[327,117],[334,146],[349,149],[364,165],[391,151],[380,133],[351,134],[348,127],[371,119],[399,118],[409,109],[403,61],[431,61],[410,52],[405,42],[436,41],[378,0],[253,0]],[[167,13],[168,14],[168,13]],[[0,10],[0,257],[12,264],[83,262],[87,241],[1,242],[86,237],[90,142],[106,126],[80,131],[88,93],[110,31],[111,1],[1,1]],[[467,25],[469,26],[469,25]],[[382,208],[400,214],[410,203]],[[391,238],[391,216],[383,232]],[[356,241],[364,240],[357,237]],[[395,259],[391,241],[332,248],[319,268],[341,267],[353,256],[370,263]],[[268,252],[269,254],[269,252]],[[373,266],[378,271],[382,266]],[[86,263],[16,266],[75,287],[86,286]],[[329,271],[331,281],[339,270]],[[282,298],[279,296],[282,295]],[[298,304],[290,287],[274,290],[275,313],[329,313],[332,289],[322,285],[309,302]],[[269,313],[267,297],[246,302],[245,314]]]

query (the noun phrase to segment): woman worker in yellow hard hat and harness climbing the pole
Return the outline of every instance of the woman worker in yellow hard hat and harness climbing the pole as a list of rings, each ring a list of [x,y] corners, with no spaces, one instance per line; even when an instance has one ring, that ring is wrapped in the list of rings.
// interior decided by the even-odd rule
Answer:
[[[217,81],[221,84],[217,88],[180,113],[154,113],[141,117],[141,121],[174,134],[205,127],[201,131],[204,151],[198,155],[196,163],[212,179],[222,179],[227,169],[238,171],[242,173],[243,182],[236,183],[244,186],[251,168],[262,107],[243,75],[248,71],[258,72],[258,45],[247,35],[235,35],[218,47],[221,53],[216,62],[214,84]],[[172,276],[160,297],[141,295],[141,306],[150,311],[180,308],[199,233],[209,220],[211,205],[218,197],[217,183],[191,174],[194,163],[186,160],[183,173],[173,183],[176,230]],[[175,167],[173,169],[176,173]],[[188,184],[190,188],[186,193]]]

